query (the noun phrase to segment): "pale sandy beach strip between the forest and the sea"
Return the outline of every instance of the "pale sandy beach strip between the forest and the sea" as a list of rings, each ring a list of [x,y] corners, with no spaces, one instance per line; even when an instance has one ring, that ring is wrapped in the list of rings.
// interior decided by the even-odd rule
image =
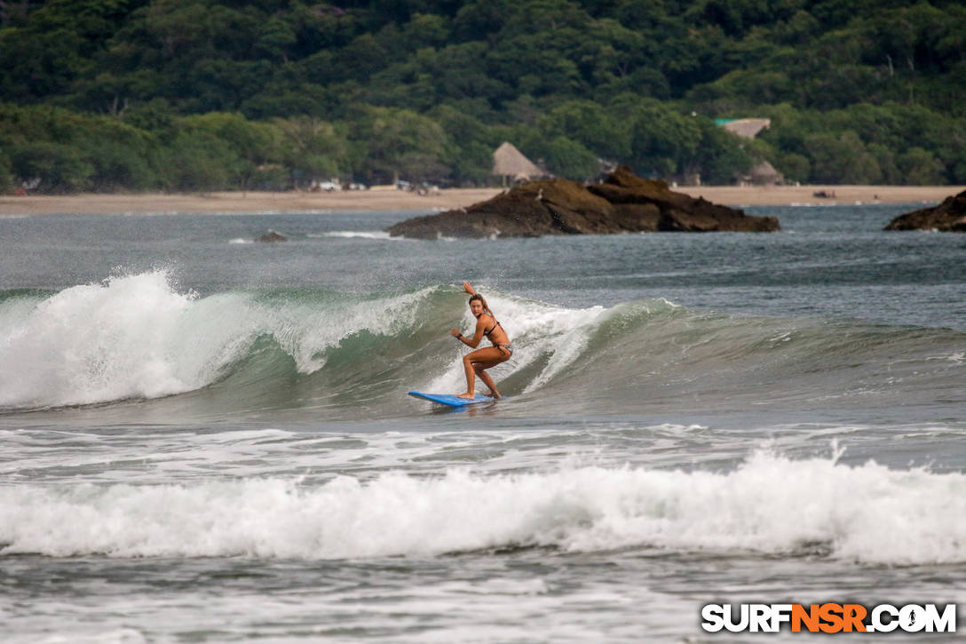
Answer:
[[[673,190],[726,206],[938,203],[964,186],[679,186]],[[0,196],[0,217],[37,215],[187,215],[425,211],[464,208],[500,189],[440,190],[419,195],[402,190],[341,192],[205,192],[188,194],[73,194]],[[816,197],[815,192],[834,194]]]

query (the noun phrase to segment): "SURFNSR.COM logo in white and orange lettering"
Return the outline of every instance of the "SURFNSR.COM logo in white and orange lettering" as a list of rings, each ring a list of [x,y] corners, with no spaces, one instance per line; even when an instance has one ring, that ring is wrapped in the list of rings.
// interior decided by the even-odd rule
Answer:
[[[955,632],[956,604],[880,603],[709,603],[701,607],[701,628],[708,632]]]

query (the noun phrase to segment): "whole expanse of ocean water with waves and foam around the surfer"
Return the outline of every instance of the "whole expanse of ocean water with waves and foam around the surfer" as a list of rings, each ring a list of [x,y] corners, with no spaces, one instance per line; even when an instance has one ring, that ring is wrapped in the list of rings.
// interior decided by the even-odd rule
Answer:
[[[917,205],[435,242],[0,219],[2,639],[736,641],[703,604],[966,604],[966,236],[881,231]],[[515,352],[453,412],[406,392],[462,391],[464,279]]]

